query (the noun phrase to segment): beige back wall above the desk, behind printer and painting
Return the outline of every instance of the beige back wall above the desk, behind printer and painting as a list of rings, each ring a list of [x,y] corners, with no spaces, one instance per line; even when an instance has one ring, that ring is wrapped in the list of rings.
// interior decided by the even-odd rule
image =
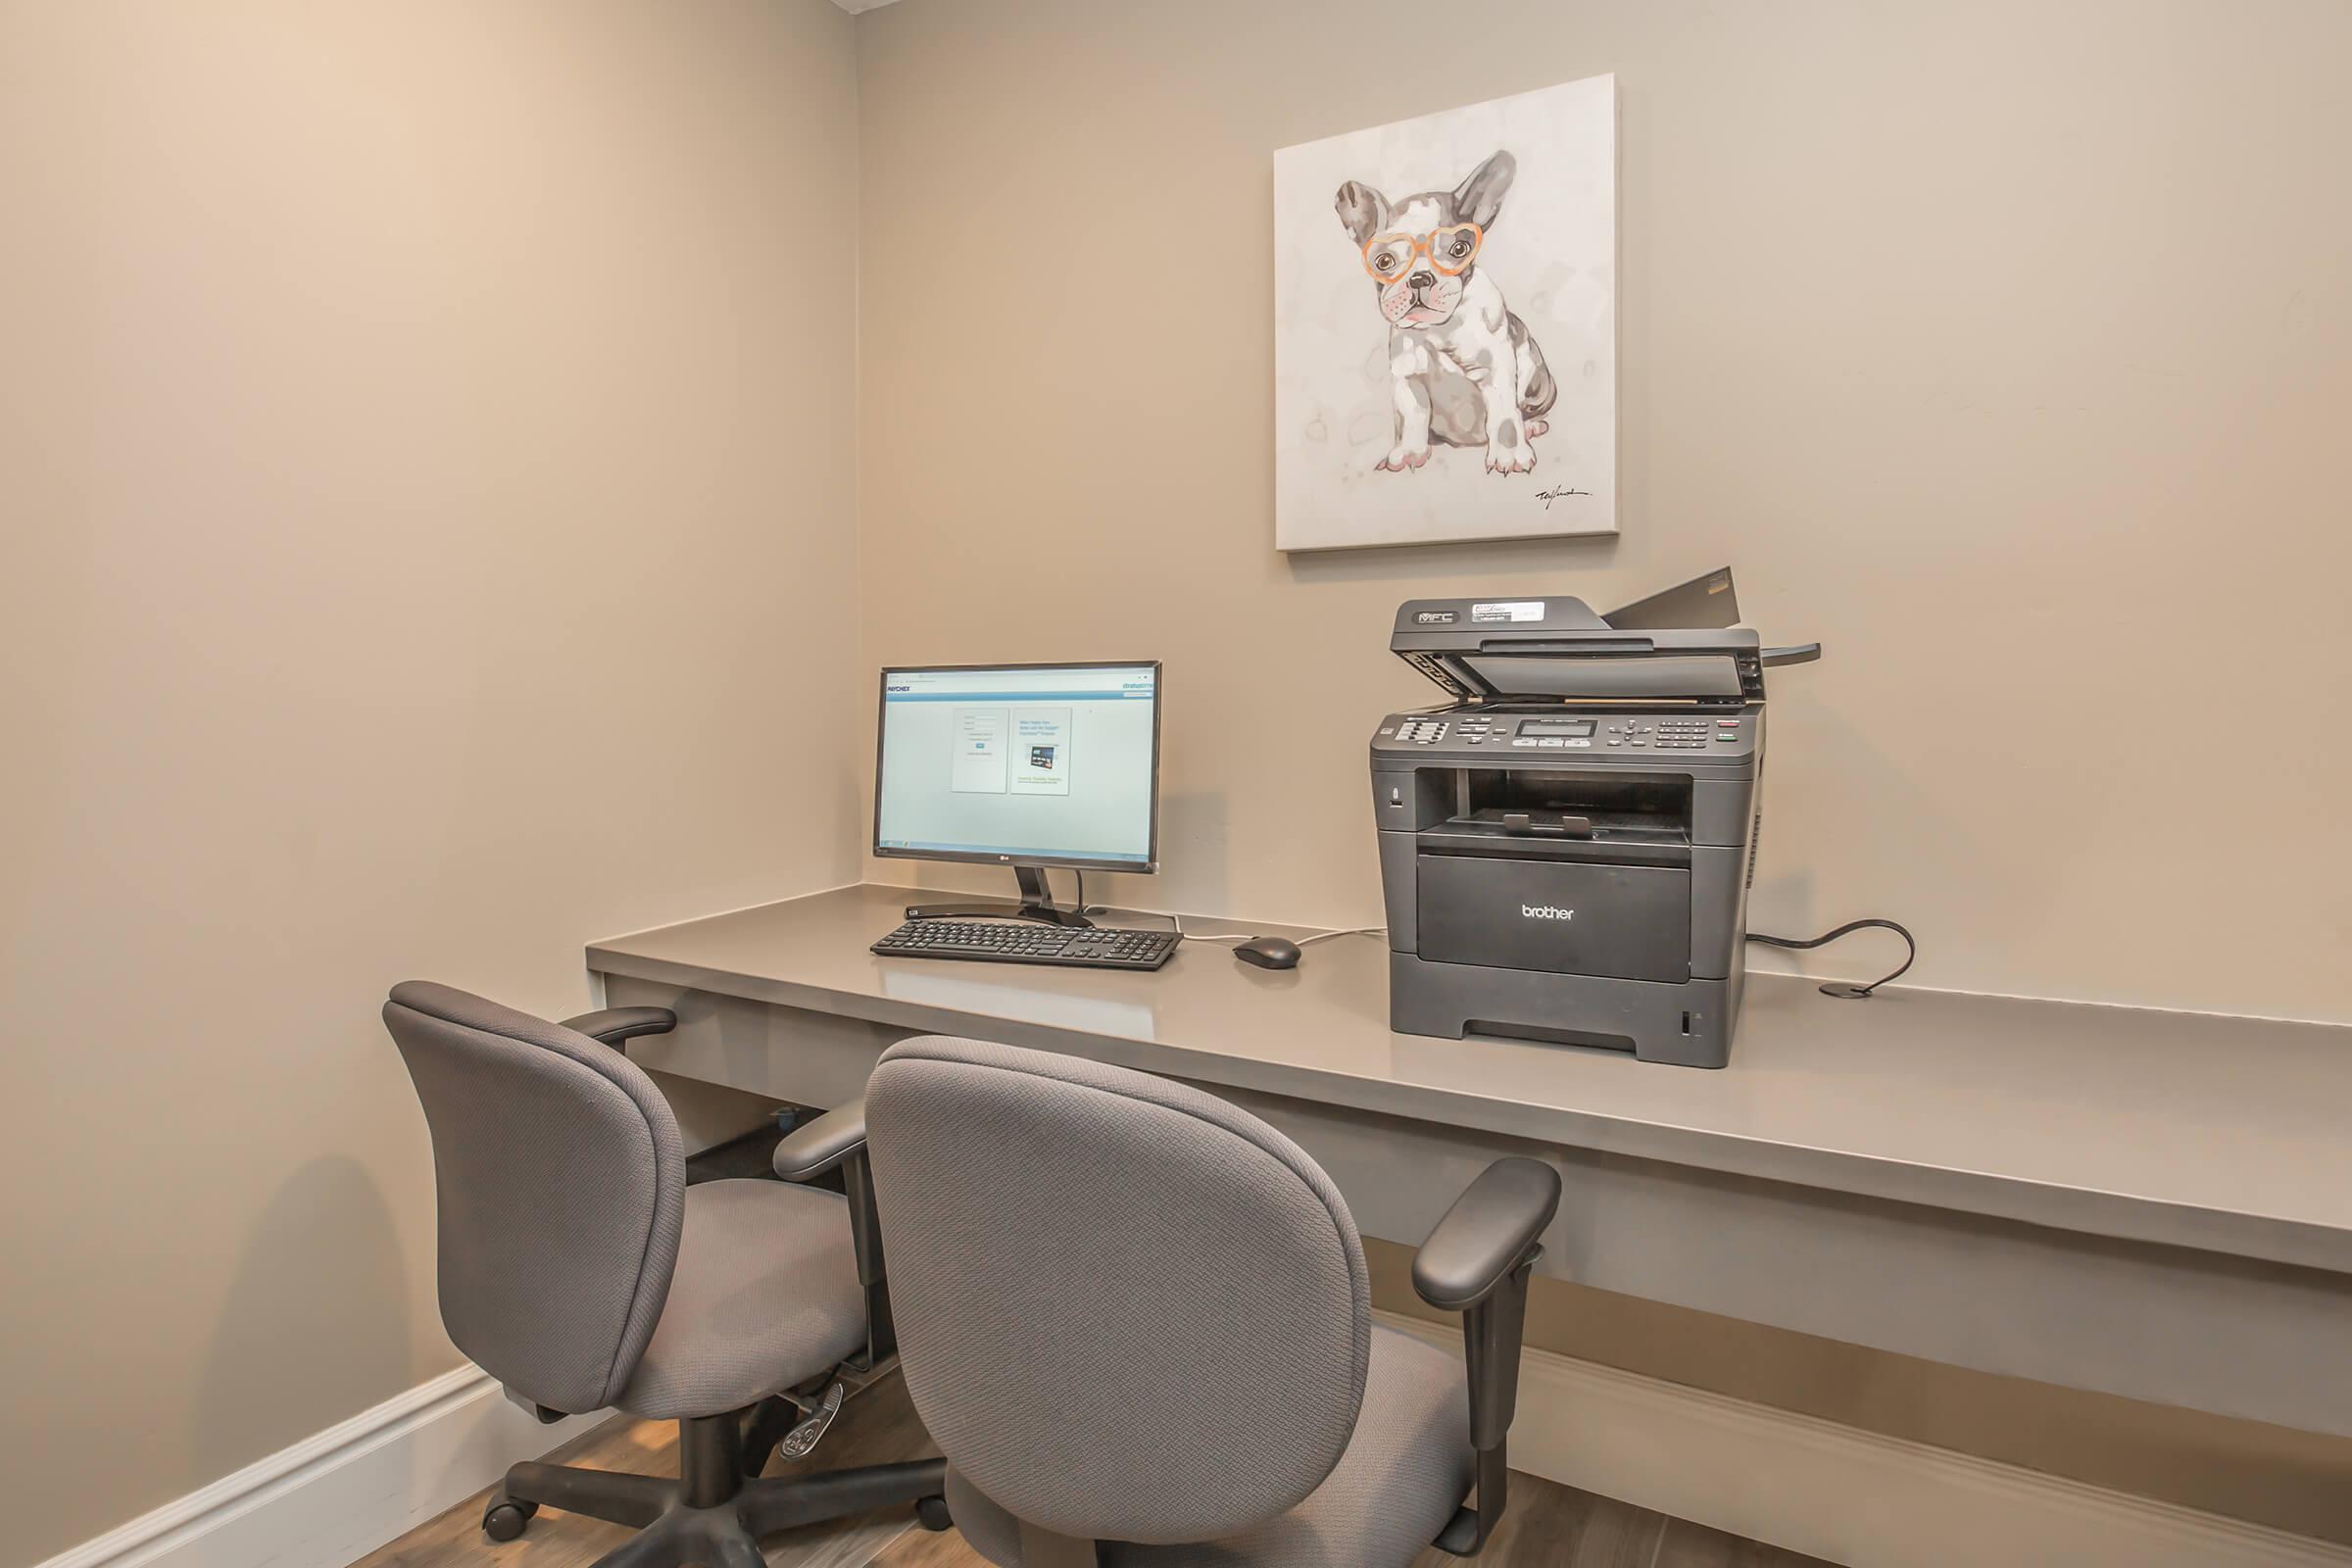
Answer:
[[[1117,893],[1357,924],[1364,743],[1435,696],[1399,599],[1729,562],[1828,644],[1773,679],[1759,929],[2352,1018],[2345,59],[2338,0],[873,12],[868,663],[1167,658],[1167,870]],[[1272,150],[1599,71],[1623,538],[1284,559]]]

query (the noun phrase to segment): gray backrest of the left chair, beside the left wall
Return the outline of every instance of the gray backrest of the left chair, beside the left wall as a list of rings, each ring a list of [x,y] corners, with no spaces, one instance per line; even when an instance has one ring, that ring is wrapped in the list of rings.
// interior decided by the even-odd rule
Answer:
[[[395,985],[383,1027],[433,1128],[449,1338],[550,1410],[609,1406],[677,1265],[668,1103],[612,1046],[447,985]]]

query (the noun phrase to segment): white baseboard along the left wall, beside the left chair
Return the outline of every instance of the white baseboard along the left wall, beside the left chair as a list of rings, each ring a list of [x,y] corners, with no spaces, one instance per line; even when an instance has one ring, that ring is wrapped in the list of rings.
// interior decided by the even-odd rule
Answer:
[[[543,1427],[461,1366],[38,1568],[346,1568],[597,1420]]]

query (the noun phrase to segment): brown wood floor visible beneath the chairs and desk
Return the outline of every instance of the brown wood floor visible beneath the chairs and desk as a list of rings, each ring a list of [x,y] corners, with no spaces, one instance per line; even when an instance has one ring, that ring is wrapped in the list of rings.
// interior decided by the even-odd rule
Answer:
[[[677,1427],[614,1418],[567,1443],[555,1458],[564,1465],[597,1469],[635,1469],[642,1474],[677,1474]],[[896,1373],[875,1380],[842,1408],[833,1432],[804,1469],[847,1469],[887,1460],[920,1460],[938,1448],[906,1399]],[[793,1474],[797,1467],[769,1462],[767,1474]],[[367,1554],[353,1568],[588,1568],[630,1537],[621,1526],[541,1509],[522,1540],[492,1544],[482,1537],[487,1493],[468,1497],[440,1519],[416,1526],[400,1540]],[[955,1530],[931,1535],[913,1528],[906,1512],[842,1519],[804,1530],[771,1535],[769,1568],[988,1568],[988,1559],[964,1544]],[[1414,1568],[1454,1566],[1463,1559],[1423,1552]],[[1818,1559],[1738,1540],[1722,1530],[1665,1519],[1592,1493],[1515,1474],[1510,1509],[1496,1528],[1484,1568],[1828,1568]]]

